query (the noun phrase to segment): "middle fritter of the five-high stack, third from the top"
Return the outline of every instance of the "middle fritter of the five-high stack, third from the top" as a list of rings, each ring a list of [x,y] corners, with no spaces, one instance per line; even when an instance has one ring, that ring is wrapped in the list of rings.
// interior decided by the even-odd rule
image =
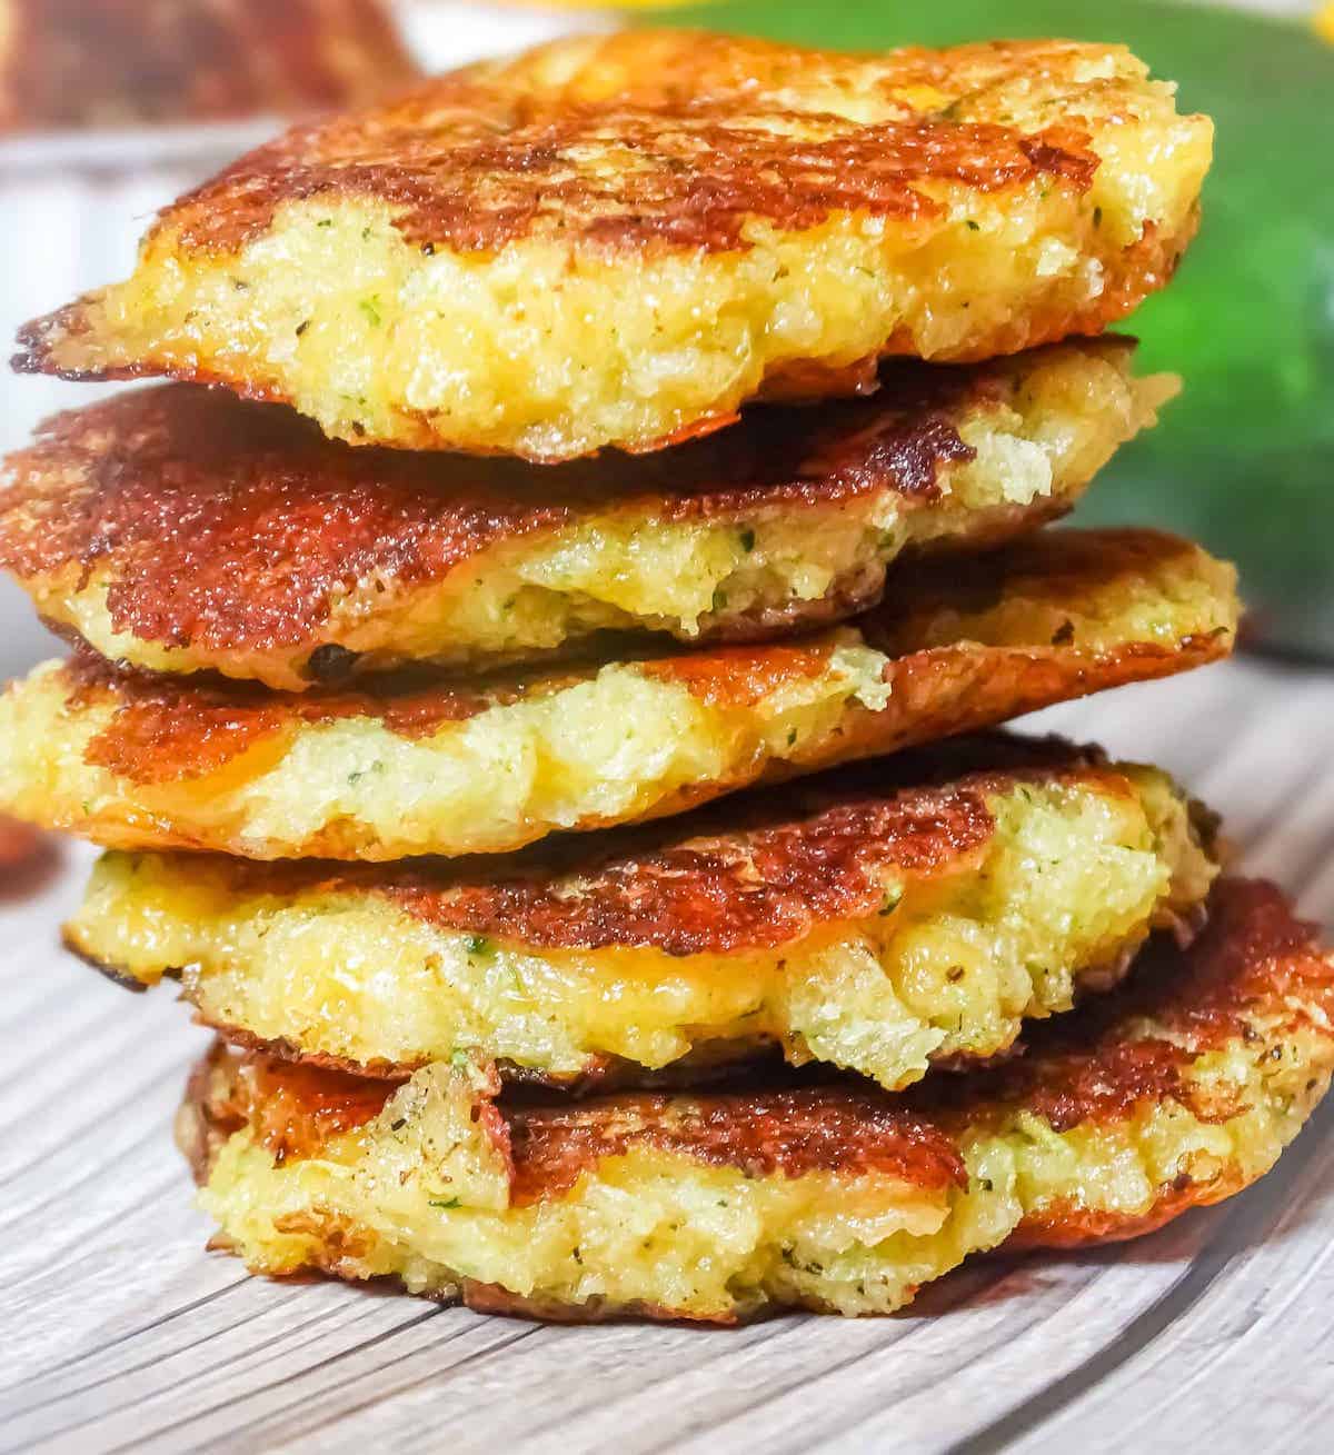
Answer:
[[[854,626],[435,685],[275,695],[51,662],[0,695],[0,808],[111,848],[505,853],[1215,661],[1234,573],[1154,531],[899,567]]]

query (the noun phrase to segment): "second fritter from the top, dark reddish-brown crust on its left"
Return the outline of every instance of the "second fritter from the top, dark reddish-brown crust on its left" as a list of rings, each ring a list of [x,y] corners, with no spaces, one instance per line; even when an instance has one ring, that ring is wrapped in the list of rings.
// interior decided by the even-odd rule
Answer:
[[[285,409],[147,390],[10,458],[0,567],[106,658],[285,690],[599,630],[772,636],[871,604],[905,547],[1068,511],[1174,390],[1133,380],[1130,354],[1107,339],[899,365],[871,400],[559,470],[356,451]]]

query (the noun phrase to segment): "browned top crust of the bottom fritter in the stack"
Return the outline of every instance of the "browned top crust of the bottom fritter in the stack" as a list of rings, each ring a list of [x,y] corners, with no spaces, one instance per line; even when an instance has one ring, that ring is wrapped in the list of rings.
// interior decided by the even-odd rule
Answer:
[[[1196,1116],[1226,1120],[1239,1107],[1203,1104],[1183,1071],[1193,1058],[1228,1045],[1271,1058],[1293,1029],[1327,1043],[1311,1084],[1334,1061],[1334,957],[1311,925],[1295,918],[1279,889],[1255,880],[1222,880],[1207,931],[1189,950],[1170,941],[1145,957],[1133,981],[1078,1013],[1039,1030],[1020,1061],[995,1071],[934,1075],[909,1096],[850,1084],[802,1084],[791,1072],[771,1085],[711,1096],[620,1094],[578,1104],[489,1106],[489,1131],[512,1157],[515,1203],[564,1195],[602,1158],[634,1147],[742,1168],[752,1177],[800,1177],[812,1171],[855,1179],[870,1171],[918,1187],[963,1184],[959,1152],[966,1129],[1011,1123],[1018,1113],[1056,1131],[1084,1122],[1125,1120],[1135,1107],[1177,1100]],[[1155,1036],[1141,1036],[1143,1020]],[[1183,1045],[1170,1043],[1175,1035]],[[188,1144],[217,1147],[220,1133],[249,1125],[285,1155],[317,1149],[336,1129],[374,1116],[390,1088],[335,1072],[307,1071],[217,1046],[196,1072],[188,1106],[209,1135]],[[359,1120],[356,1120],[359,1119]],[[304,1138],[304,1141],[303,1141]],[[1207,1183],[1189,1174],[1158,1189],[1152,1208],[1133,1216],[1094,1212],[1074,1196],[1030,1216],[1013,1245],[1066,1247],[1133,1237],[1191,1206],[1241,1189],[1239,1168]],[[521,1301],[484,1307],[534,1312]],[[546,1314],[547,1310],[535,1310]]]

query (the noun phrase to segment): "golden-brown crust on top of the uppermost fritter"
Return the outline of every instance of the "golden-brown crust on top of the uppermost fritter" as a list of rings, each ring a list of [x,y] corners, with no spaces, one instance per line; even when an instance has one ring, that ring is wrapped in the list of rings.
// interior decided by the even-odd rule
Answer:
[[[884,58],[858,124],[784,109],[784,83],[851,79],[852,57],[726,36],[608,38],[573,74],[543,74],[544,52],[438,77],[378,109],[292,128],[182,198],[157,224],[189,252],[227,253],[287,202],[388,202],[410,243],[495,252],[534,234],[607,250],[746,246],[748,218],[783,230],[834,211],[919,224],[943,215],[931,185],[980,195],[1040,185],[1079,196],[1098,156],[1071,115],[1078,63],[1106,51],[1013,42]],[[804,73],[804,74],[803,74]],[[662,76],[671,74],[671,84]],[[895,92],[1040,77],[1055,124],[1015,127],[919,112]],[[1068,95],[1062,96],[1062,84]],[[1062,105],[1063,100],[1063,105]],[[1075,103],[1077,105],[1077,103]],[[799,138],[784,121],[800,121]],[[764,125],[768,121],[771,125]],[[589,148],[634,166],[580,164]]]

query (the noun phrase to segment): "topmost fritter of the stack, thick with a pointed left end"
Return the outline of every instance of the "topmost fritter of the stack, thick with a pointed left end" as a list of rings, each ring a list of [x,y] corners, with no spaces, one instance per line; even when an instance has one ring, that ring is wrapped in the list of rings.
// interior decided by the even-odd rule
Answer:
[[[354,444],[655,448],[886,354],[1100,332],[1171,276],[1210,148],[1119,47],[578,38],[243,157],[16,362],[225,383]]]

